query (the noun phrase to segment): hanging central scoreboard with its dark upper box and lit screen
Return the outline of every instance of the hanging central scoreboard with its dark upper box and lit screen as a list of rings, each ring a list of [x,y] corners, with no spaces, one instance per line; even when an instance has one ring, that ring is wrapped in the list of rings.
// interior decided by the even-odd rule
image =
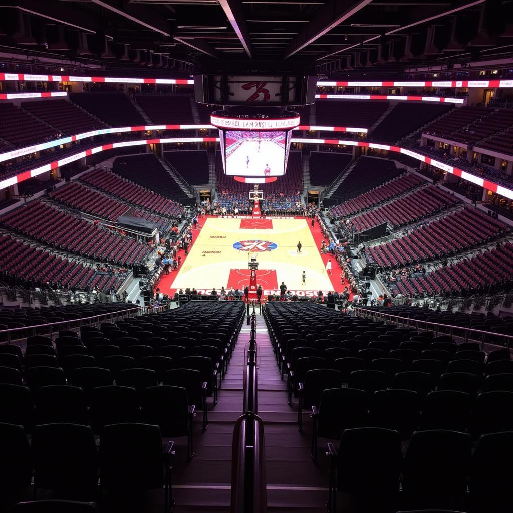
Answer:
[[[299,113],[287,108],[312,104],[316,84],[317,76],[293,72],[194,75],[196,102],[220,106],[210,123],[219,129],[225,174],[253,184],[283,176],[300,124]]]

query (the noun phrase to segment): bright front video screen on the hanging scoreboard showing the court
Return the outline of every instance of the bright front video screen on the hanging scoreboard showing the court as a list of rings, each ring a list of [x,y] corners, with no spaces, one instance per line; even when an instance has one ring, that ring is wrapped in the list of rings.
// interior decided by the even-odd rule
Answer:
[[[229,176],[283,176],[286,133],[280,131],[228,130],[225,170]]]

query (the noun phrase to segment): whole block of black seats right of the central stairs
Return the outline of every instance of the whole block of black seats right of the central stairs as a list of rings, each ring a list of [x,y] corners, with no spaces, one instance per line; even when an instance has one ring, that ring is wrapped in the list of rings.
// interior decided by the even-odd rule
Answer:
[[[500,456],[513,451],[503,432],[513,427],[509,350],[486,357],[475,343],[310,302],[268,303],[265,319],[289,402],[299,398],[300,431],[312,417],[311,457],[319,438],[330,457],[330,509],[336,500],[361,511],[507,507],[502,482],[483,486],[489,469],[481,464],[499,461],[511,475]],[[499,366],[509,369],[505,377]]]

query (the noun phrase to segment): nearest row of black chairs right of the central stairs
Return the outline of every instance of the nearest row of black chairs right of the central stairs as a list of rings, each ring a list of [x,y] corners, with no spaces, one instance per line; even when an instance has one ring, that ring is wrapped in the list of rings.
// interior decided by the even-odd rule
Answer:
[[[328,443],[328,511],[344,494],[353,511],[471,511],[503,513],[513,494],[513,432],[482,436],[475,449],[467,433],[415,432],[402,450],[397,431],[346,429],[338,448]]]

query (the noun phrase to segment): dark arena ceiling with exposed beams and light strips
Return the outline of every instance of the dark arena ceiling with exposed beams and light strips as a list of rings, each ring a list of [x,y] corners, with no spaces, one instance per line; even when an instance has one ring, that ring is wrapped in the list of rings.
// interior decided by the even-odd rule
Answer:
[[[513,56],[513,2],[0,0],[0,51],[137,68],[274,61],[393,75]]]

